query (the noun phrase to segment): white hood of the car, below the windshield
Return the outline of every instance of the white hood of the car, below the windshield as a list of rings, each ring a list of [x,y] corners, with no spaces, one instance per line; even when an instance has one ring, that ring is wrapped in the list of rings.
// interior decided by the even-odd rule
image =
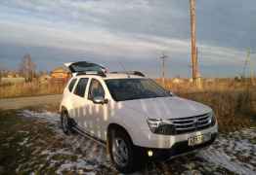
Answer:
[[[206,105],[176,96],[128,100],[120,103],[122,108],[143,113],[149,119],[186,118],[212,111]]]

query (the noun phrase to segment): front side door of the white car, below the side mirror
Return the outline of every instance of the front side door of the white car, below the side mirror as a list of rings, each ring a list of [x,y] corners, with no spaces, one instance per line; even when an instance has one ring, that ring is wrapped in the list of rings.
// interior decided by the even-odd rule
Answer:
[[[106,91],[99,80],[92,79],[88,90],[88,112],[91,123],[89,127],[90,132],[94,136],[104,140],[106,134],[106,130],[104,129],[104,125],[106,124],[104,116],[107,113],[107,104],[95,103],[94,98],[99,96],[105,98]]]

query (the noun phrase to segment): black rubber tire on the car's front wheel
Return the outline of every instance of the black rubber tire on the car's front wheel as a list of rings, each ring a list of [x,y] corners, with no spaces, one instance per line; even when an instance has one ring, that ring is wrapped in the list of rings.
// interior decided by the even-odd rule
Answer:
[[[127,159],[122,159],[125,162],[120,163],[116,159],[118,156],[116,156],[116,153],[118,152],[116,150],[116,141],[122,140],[123,143],[126,145],[127,148]],[[121,143],[121,142],[120,142]],[[130,136],[127,134],[127,132],[123,129],[112,129],[110,130],[110,138],[109,138],[109,154],[112,163],[116,167],[118,171],[121,173],[133,173],[143,167],[145,164],[145,158],[141,154],[142,152],[139,152],[139,149],[133,145]],[[120,154],[119,154],[120,156]]]

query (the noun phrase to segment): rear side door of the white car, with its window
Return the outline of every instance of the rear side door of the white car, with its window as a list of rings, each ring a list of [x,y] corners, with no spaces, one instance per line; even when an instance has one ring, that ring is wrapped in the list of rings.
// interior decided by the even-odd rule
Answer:
[[[88,128],[88,115],[87,115],[87,107],[88,107],[88,100],[87,100],[87,93],[88,90],[88,78],[80,78],[76,87],[73,90],[72,94],[72,118],[78,124],[80,128],[87,131]]]

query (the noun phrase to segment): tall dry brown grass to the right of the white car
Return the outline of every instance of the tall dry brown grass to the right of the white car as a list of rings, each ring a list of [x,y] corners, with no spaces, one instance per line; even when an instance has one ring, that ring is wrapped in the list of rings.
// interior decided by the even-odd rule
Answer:
[[[222,131],[255,125],[256,87],[250,83],[222,80],[203,83],[200,89],[192,83],[172,84],[167,81],[165,85],[179,96],[213,108]]]

